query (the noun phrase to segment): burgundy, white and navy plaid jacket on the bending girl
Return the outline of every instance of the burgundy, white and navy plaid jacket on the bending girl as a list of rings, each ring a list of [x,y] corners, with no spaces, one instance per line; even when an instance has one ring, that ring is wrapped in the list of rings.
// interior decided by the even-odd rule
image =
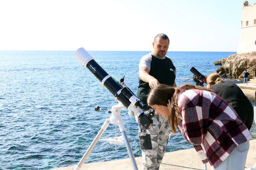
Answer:
[[[212,168],[233,149],[252,138],[248,128],[226,101],[205,90],[186,90],[178,96],[182,135],[192,143],[203,163]]]

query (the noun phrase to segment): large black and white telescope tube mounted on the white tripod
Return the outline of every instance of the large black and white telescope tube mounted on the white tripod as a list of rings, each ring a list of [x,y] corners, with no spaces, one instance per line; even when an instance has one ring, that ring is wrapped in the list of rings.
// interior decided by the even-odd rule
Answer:
[[[140,102],[128,87],[122,86],[111,77],[84,48],[81,47],[77,49],[75,56],[83,66],[86,66],[91,73],[101,81],[102,85],[132,113],[132,115],[140,118],[140,123],[144,128],[149,129],[151,127],[154,110],[149,111],[148,114],[144,114],[144,111],[148,110],[148,106]]]

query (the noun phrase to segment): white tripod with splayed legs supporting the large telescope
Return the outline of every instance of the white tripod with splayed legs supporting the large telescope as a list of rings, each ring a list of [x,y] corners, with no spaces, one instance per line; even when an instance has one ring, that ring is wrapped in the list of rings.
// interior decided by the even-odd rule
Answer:
[[[94,140],[92,141],[91,145],[89,146],[89,148],[86,150],[84,156],[82,157],[82,159],[79,161],[78,165],[75,167],[74,170],[79,170],[81,168],[81,166],[83,165],[84,161],[86,160],[86,158],[89,156],[89,154],[91,153],[92,149],[94,148],[94,146],[96,145],[96,143],[98,142],[98,140],[100,139],[101,135],[103,134],[103,132],[108,128],[109,124],[113,124],[113,125],[118,125],[123,139],[122,138],[109,138],[109,139],[102,139],[102,140],[106,140],[106,141],[110,141],[110,143],[115,143],[115,144],[123,144],[123,142],[126,145],[129,157],[131,159],[132,165],[133,165],[133,169],[134,170],[138,170],[137,167],[137,163],[135,161],[134,155],[132,153],[132,149],[130,146],[130,143],[128,141],[127,138],[127,134],[124,128],[124,122],[123,122],[123,118],[120,114],[120,111],[122,109],[126,109],[123,104],[118,101],[118,104],[115,106],[111,107],[111,116],[109,117],[109,119],[106,119],[104,124],[102,125],[100,131],[98,132],[98,134],[96,135],[96,137],[94,138]]]

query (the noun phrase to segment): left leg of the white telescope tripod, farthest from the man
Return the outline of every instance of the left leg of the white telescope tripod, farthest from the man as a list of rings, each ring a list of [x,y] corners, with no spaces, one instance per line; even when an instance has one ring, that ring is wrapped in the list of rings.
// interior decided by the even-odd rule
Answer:
[[[101,135],[103,134],[103,132],[107,129],[108,125],[109,125],[110,120],[107,119],[104,124],[102,125],[100,131],[98,132],[98,134],[96,135],[96,137],[93,139],[92,143],[90,144],[89,148],[86,150],[84,156],[82,157],[82,159],[79,161],[78,165],[75,167],[74,170],[79,170],[81,168],[81,166],[83,165],[84,161],[86,160],[86,158],[89,156],[89,154],[91,153],[92,149],[94,148],[94,146],[96,145],[96,143],[98,142],[99,138],[101,137]]]

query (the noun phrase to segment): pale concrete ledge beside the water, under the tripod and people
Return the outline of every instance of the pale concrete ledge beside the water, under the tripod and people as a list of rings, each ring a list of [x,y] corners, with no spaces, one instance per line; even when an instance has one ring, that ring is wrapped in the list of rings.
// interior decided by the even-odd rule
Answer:
[[[105,153],[107,154],[107,153]],[[81,155],[82,156],[82,155]],[[142,170],[141,157],[135,158],[138,169]],[[239,160],[238,160],[239,161]],[[246,168],[252,167],[256,163],[256,140],[250,140],[250,148],[246,160]],[[73,170],[75,166],[63,168],[55,168],[52,170]],[[80,170],[133,170],[131,160],[121,159],[115,161],[96,162],[83,164]],[[160,170],[204,170],[202,161],[200,160],[195,149],[184,149],[174,152],[165,153],[164,159],[160,165]],[[211,170],[211,166],[207,163],[207,169]]]

